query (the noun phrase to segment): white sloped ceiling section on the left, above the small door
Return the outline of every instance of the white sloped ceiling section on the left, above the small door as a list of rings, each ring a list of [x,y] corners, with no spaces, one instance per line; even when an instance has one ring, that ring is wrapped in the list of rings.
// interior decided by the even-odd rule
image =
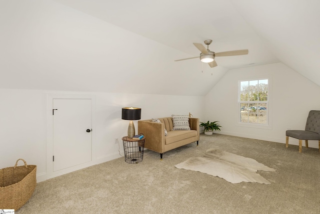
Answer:
[[[51,0],[0,15],[1,88],[204,96],[226,70]]]

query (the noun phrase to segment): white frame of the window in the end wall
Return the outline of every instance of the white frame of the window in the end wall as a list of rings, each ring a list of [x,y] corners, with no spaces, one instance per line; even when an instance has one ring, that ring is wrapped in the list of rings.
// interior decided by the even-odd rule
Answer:
[[[255,80],[268,80],[268,99],[266,102],[266,118],[267,123],[266,124],[259,124],[259,123],[244,123],[241,122],[241,112],[240,112],[240,103],[243,103],[243,101],[240,101],[240,85],[243,81],[255,81]],[[271,77],[257,77],[257,78],[251,78],[251,79],[243,79],[238,80],[238,86],[237,86],[237,103],[236,103],[236,111],[237,111],[237,125],[243,126],[243,127],[251,127],[251,128],[264,128],[264,129],[271,129]],[[247,101],[247,103],[265,103],[265,101]]]

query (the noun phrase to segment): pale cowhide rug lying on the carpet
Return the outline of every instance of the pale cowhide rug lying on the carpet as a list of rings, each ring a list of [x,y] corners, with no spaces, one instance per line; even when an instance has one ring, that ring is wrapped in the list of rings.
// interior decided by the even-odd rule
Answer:
[[[256,171],[275,171],[254,159],[219,149],[208,149],[205,151],[204,157],[189,158],[175,165],[175,167],[218,176],[230,183],[256,182],[271,184]]]

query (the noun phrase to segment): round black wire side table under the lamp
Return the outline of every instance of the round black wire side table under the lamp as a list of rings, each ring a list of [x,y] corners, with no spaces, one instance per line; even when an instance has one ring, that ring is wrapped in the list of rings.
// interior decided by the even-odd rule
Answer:
[[[139,163],[143,160],[144,139],[145,137],[140,140],[122,137],[125,162]]]

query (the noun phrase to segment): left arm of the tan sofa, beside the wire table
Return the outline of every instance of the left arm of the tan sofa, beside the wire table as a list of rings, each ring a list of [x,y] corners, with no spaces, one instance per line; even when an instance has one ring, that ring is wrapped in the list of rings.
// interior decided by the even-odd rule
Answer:
[[[144,148],[152,151],[164,152],[164,124],[146,120],[138,121],[138,133],[143,133]]]

